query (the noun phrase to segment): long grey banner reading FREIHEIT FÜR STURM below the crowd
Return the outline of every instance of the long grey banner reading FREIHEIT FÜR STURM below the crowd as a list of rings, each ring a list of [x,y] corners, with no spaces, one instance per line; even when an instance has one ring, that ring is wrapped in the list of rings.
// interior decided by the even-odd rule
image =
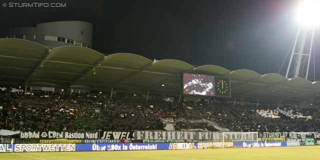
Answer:
[[[211,131],[187,131],[187,130],[175,130],[175,131],[164,131],[164,130],[134,130],[134,136],[137,140],[144,139],[184,139],[184,140],[220,140],[222,141],[222,133],[211,132]],[[224,134],[225,141],[250,141],[256,140],[256,134],[239,132]]]

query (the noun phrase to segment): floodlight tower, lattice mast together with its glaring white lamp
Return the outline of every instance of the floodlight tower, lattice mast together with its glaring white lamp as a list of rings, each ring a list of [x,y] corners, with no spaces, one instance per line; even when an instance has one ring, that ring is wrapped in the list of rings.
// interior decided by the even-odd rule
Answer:
[[[314,27],[320,18],[320,1],[305,0],[298,8],[299,29],[296,33],[290,61],[285,77],[304,77],[307,79],[310,55],[314,39]],[[294,63],[294,67],[291,67]],[[292,64],[293,65],[293,64]],[[304,68],[306,66],[306,68]],[[289,71],[291,72],[289,73]]]

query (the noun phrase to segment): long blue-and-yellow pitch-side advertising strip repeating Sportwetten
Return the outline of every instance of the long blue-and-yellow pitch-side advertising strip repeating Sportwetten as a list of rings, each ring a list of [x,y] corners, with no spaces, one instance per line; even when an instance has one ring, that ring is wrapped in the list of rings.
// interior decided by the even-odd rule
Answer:
[[[42,151],[113,151],[159,149],[205,149],[210,147],[272,147],[287,146],[287,141],[259,142],[171,142],[171,143],[19,143],[13,144],[13,152]],[[11,144],[0,144],[0,152],[12,152]]]

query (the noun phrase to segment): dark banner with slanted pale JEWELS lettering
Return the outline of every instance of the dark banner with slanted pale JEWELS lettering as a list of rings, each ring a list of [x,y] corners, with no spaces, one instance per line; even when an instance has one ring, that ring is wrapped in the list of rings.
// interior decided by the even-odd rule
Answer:
[[[100,131],[100,139],[128,139],[134,140],[133,131]]]

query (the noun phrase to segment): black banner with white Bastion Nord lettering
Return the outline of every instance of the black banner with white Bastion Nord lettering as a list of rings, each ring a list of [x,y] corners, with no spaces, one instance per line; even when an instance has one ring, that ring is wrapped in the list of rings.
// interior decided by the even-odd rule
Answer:
[[[66,139],[97,139],[98,131],[95,130],[64,130]]]

